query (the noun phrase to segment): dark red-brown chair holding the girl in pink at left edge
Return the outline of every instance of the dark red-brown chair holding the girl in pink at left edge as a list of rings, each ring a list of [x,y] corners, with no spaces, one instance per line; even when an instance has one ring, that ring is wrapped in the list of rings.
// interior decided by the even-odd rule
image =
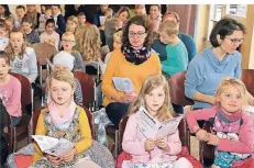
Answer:
[[[27,126],[33,113],[33,89],[26,77],[20,74],[11,75],[18,78],[21,82],[22,117],[20,124],[13,127],[13,131],[11,131],[11,133],[13,133],[11,135],[11,139],[13,139],[13,152],[15,152],[18,146],[18,138],[22,137],[23,134],[26,134],[29,138]]]

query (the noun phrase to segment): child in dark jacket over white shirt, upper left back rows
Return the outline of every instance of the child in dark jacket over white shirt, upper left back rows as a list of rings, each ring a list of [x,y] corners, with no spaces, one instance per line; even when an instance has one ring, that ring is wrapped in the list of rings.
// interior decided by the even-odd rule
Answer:
[[[58,33],[60,36],[65,33],[65,19],[60,14],[60,5],[59,4],[52,4],[52,15],[53,19],[55,20],[55,25],[56,25],[56,33]]]

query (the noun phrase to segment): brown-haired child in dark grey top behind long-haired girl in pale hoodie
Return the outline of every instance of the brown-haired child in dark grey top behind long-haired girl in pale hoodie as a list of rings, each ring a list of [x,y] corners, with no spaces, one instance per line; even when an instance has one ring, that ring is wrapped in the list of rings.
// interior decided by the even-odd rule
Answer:
[[[33,20],[29,16],[24,16],[22,20],[22,31],[26,36],[27,45],[38,43],[38,33],[33,30]]]

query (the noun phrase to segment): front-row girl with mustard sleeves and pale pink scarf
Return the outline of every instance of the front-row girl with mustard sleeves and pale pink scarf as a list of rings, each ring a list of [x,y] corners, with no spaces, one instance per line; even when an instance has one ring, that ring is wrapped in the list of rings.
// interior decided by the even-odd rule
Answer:
[[[85,150],[92,145],[91,130],[86,112],[74,100],[75,79],[69,70],[57,70],[49,76],[48,89],[53,100],[43,109],[37,121],[36,135],[66,138],[75,143],[75,147],[63,157],[44,154],[35,145],[33,167],[81,167],[100,168],[90,159],[85,159]],[[59,134],[62,132],[62,134]],[[44,157],[43,157],[44,156]]]

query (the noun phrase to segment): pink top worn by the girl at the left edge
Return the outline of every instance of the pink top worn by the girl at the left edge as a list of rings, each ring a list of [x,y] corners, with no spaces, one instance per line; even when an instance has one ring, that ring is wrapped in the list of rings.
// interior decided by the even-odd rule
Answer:
[[[11,116],[21,116],[21,83],[11,76],[8,83],[0,85],[0,98]]]

